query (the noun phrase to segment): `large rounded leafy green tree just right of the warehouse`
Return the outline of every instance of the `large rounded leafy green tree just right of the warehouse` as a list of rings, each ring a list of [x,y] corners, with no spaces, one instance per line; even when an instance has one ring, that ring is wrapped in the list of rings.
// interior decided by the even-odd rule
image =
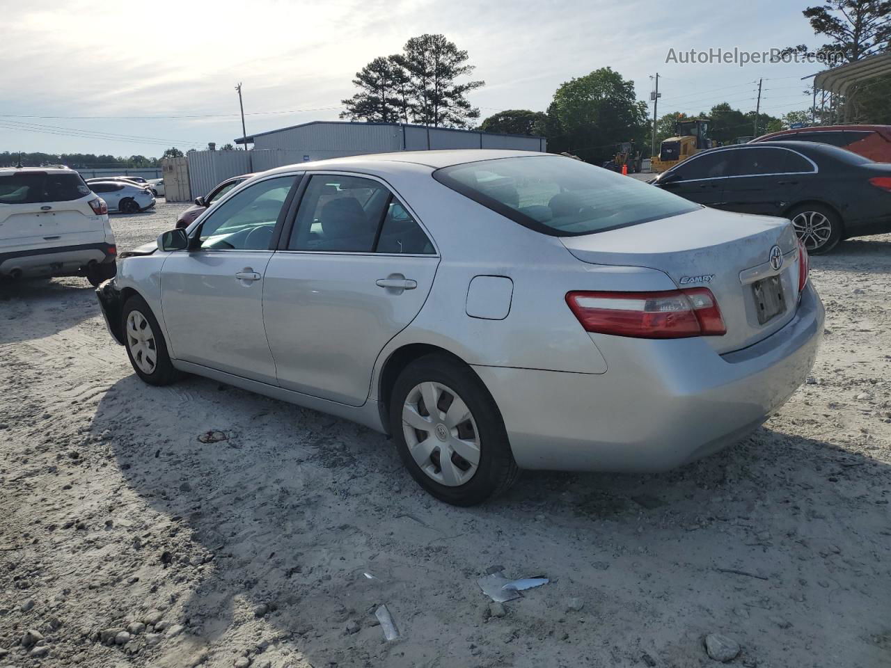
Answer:
[[[609,159],[619,142],[650,143],[647,104],[634,94],[634,81],[611,68],[570,79],[548,107],[553,136],[549,149],[568,151],[594,164]]]

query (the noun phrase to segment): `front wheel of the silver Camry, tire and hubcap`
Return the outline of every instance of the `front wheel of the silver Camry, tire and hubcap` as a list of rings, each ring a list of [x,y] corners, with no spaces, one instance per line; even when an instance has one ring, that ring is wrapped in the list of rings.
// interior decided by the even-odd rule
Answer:
[[[146,329],[151,339],[144,338]],[[134,295],[124,303],[121,312],[121,331],[124,333],[127,357],[130,358],[137,376],[149,385],[170,385],[179,379],[180,372],[170,363],[167,342],[161,334],[158,321],[143,297]],[[134,338],[131,334],[133,331],[140,332],[143,338]],[[151,352],[154,353],[153,364],[151,364]]]

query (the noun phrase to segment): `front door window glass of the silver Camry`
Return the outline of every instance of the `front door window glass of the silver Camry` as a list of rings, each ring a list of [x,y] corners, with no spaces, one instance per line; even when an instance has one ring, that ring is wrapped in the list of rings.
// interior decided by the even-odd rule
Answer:
[[[279,176],[254,183],[213,211],[200,227],[200,248],[261,250],[269,248],[275,222],[294,183]]]

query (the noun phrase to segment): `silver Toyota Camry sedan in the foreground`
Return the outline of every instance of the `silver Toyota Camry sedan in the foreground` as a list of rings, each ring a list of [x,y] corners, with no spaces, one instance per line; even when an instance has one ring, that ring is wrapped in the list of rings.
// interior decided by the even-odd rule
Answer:
[[[145,382],[355,420],[470,505],[521,468],[654,471],[746,436],[813,365],[807,278],[788,220],[561,156],[423,151],[255,175],[98,294]]]

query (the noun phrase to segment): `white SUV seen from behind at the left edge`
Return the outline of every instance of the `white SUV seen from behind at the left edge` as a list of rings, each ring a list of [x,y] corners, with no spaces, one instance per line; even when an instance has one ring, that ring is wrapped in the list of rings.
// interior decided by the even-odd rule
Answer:
[[[0,167],[0,277],[115,275],[108,207],[68,167]]]

